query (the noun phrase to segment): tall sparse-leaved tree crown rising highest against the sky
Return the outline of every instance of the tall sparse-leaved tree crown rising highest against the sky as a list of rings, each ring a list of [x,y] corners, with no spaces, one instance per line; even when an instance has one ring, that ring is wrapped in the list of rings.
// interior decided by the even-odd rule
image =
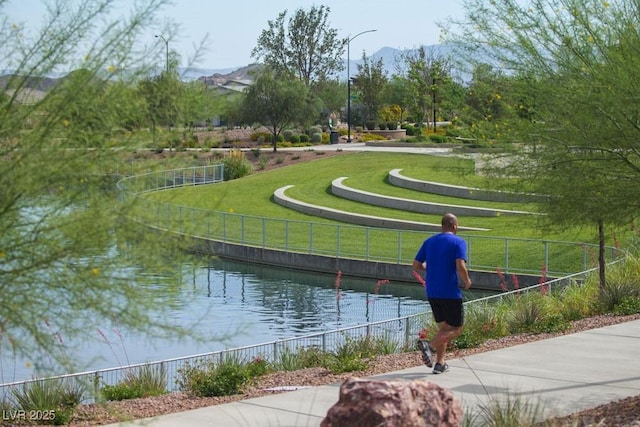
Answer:
[[[251,56],[276,74],[297,78],[309,86],[341,71],[347,39],[329,24],[330,8],[312,6],[297,9],[285,28],[287,11],[280,13],[263,30]]]

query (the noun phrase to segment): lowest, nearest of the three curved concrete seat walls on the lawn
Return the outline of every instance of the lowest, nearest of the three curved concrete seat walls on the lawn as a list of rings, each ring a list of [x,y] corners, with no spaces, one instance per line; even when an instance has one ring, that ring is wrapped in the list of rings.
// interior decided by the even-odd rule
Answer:
[[[384,218],[372,215],[354,214],[351,212],[341,211],[338,209],[332,209],[325,206],[312,205],[304,203],[299,200],[295,200],[285,195],[285,191],[293,185],[287,185],[278,188],[273,193],[273,199],[281,206],[285,206],[289,209],[303,212],[309,215],[319,216],[322,218],[329,218],[336,221],[343,221],[352,224],[364,225],[369,227],[383,227],[383,228],[395,228],[400,230],[415,230],[415,231],[435,231],[441,230],[440,224],[430,224],[426,222],[417,221],[402,221],[394,218]],[[488,231],[486,228],[473,228],[473,227],[460,227],[460,231]]]

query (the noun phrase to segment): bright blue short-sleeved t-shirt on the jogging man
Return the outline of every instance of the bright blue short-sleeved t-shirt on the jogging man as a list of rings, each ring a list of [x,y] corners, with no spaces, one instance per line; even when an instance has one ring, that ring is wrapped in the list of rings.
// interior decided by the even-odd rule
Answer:
[[[456,260],[467,261],[467,243],[453,233],[440,233],[422,243],[416,261],[427,263],[427,298],[462,299]]]

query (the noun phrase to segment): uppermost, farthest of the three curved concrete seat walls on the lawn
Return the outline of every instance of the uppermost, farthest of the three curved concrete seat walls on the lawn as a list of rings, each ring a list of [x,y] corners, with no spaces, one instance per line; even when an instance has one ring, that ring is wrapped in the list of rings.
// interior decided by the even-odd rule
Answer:
[[[389,182],[393,185],[423,193],[440,194],[443,196],[460,197],[462,199],[484,200],[487,202],[543,202],[546,196],[529,193],[512,193],[508,191],[487,190],[484,188],[462,187],[458,185],[441,184],[439,182],[421,181],[400,174],[402,169],[389,172]]]

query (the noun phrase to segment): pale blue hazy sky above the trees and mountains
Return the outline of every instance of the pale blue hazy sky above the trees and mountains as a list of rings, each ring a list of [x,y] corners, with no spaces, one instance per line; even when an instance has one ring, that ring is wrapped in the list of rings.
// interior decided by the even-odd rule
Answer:
[[[6,0],[0,13],[10,22],[39,25],[45,16],[43,1],[53,0]],[[134,0],[117,3],[124,12]],[[297,9],[320,5],[330,8],[329,24],[341,37],[376,30],[351,41],[352,60],[360,58],[363,50],[371,55],[383,47],[437,44],[440,30],[436,24],[448,17],[463,18],[462,0],[174,0],[160,11],[159,21],[170,18],[180,25],[179,35],[169,39],[169,49],[180,55],[181,66],[193,57],[194,44],[199,45],[208,34],[207,51],[196,66],[237,68],[255,62],[251,50],[269,20],[285,10],[291,16]],[[148,41],[163,43],[153,33],[150,29]]]

